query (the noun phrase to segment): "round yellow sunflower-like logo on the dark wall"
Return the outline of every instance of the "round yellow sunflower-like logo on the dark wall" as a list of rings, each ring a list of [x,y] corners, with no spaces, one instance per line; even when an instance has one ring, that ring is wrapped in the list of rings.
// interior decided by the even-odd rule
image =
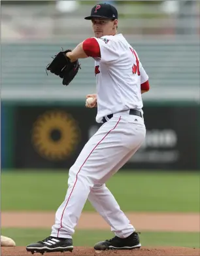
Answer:
[[[33,124],[32,143],[48,160],[63,160],[78,145],[80,130],[76,120],[61,110],[47,111]]]

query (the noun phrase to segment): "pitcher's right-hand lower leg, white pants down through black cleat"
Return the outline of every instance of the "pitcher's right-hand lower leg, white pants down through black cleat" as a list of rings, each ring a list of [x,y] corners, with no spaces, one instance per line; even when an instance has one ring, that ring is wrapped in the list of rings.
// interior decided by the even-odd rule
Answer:
[[[111,230],[116,235],[112,239],[95,244],[95,250],[135,249],[141,247],[139,235],[135,232],[135,228],[130,224],[124,212],[120,210],[120,206],[105,184],[95,185],[90,191],[88,199],[107,221],[108,225],[111,226]]]

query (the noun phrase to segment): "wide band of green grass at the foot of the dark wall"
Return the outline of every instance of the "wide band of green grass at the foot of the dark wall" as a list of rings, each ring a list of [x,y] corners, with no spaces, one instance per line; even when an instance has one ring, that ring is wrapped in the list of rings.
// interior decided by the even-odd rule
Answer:
[[[2,172],[1,210],[57,210],[68,172]],[[199,212],[199,174],[118,172],[107,183],[123,211]],[[45,203],[44,203],[45,202]],[[92,211],[90,203],[84,210]]]

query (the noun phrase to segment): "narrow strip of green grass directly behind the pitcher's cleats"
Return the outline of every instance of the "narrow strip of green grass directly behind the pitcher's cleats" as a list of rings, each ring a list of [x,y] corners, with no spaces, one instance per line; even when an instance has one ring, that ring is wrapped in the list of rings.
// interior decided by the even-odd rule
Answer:
[[[1,229],[3,236],[14,239],[17,246],[26,246],[50,235],[50,229]],[[112,238],[113,234],[103,230],[76,230],[74,246],[93,246],[96,242]],[[142,232],[142,246],[200,247],[197,232]]]

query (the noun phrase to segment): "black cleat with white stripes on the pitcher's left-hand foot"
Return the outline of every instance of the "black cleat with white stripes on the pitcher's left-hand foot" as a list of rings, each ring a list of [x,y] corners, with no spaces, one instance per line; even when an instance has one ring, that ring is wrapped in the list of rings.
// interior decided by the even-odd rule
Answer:
[[[29,244],[26,247],[27,251],[33,253],[52,253],[55,251],[73,251],[73,240],[71,238],[57,238],[48,236],[42,241],[35,244]]]

